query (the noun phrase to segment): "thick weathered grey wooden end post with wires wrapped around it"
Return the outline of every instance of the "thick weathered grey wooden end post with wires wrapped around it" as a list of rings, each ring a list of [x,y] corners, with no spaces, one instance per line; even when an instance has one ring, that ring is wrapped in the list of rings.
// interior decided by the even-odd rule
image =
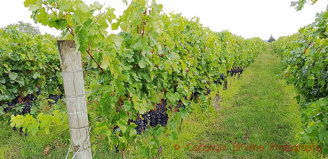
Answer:
[[[92,159],[81,53],[74,53],[74,40],[58,40],[57,45],[74,159]]]

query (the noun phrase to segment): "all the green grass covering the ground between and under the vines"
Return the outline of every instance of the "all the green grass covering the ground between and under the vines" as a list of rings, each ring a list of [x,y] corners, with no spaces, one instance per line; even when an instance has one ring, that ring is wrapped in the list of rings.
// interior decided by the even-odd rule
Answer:
[[[315,152],[283,152],[270,150],[270,144],[296,145],[295,133],[301,131],[299,106],[293,99],[293,86],[282,80],[282,65],[278,58],[267,50],[256,62],[247,68],[240,79],[230,78],[229,88],[220,91],[220,103],[216,107],[219,117],[204,115],[198,105],[183,121],[178,130],[177,141],[168,137],[160,138],[163,159],[235,159],[235,158],[323,158]],[[220,87],[222,90],[222,87]],[[68,125],[51,128],[51,134],[40,132],[37,136],[20,136],[5,126],[0,130],[0,159],[2,158],[65,158],[68,145],[60,146],[69,135]],[[189,149],[187,149],[188,143]],[[263,145],[263,151],[233,151],[233,144]],[[226,150],[217,153],[190,151],[193,145],[225,145]],[[302,144],[302,143],[300,143]],[[41,153],[50,145],[50,156]],[[132,143],[132,145],[137,145]],[[174,145],[180,149],[175,150]],[[130,158],[142,158],[136,147],[127,150]],[[98,143],[93,158],[122,158],[121,153],[114,153],[106,143]]]

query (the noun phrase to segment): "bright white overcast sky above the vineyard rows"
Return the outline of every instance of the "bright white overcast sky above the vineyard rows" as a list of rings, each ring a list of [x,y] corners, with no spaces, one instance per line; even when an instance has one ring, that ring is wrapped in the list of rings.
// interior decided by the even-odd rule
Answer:
[[[83,0],[86,4],[98,1],[104,7],[115,8],[115,15],[121,15],[126,9],[122,0]],[[151,1],[151,0],[150,0]],[[328,4],[320,0],[315,5],[306,4],[301,11],[290,7],[291,0],[157,0],[163,4],[163,12],[182,13],[187,18],[197,16],[204,26],[213,31],[229,29],[230,32],[244,38],[260,37],[268,40],[270,35],[279,36],[296,33],[300,27],[314,21],[317,12],[324,11]],[[294,0],[296,1],[296,0]],[[60,35],[60,31],[34,24],[31,12],[24,7],[24,0],[1,0],[0,27],[24,21],[38,26],[41,33]],[[131,0],[128,0],[131,2]],[[110,27],[109,27],[110,29]],[[111,31],[118,33],[118,31]]]

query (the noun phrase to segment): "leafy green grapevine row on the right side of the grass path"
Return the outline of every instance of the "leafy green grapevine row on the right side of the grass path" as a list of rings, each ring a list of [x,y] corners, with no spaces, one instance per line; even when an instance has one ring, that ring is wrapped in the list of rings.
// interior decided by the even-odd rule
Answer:
[[[297,1],[292,6],[301,10],[305,3],[316,2]],[[298,93],[295,99],[300,104],[304,130],[296,137],[305,143],[319,144],[323,154],[328,154],[327,12],[317,13],[315,22],[300,28],[298,33],[272,42],[273,52],[282,59],[282,77]]]

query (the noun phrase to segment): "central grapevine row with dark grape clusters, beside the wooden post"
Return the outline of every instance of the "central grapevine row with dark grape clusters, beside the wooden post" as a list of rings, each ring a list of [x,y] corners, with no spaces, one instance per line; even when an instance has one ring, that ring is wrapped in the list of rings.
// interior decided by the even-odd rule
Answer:
[[[88,6],[78,0],[26,0],[24,5],[35,22],[73,39],[75,52],[86,57],[82,61],[99,70],[87,86],[102,88],[87,98],[97,103],[88,108],[91,140],[108,141],[123,155],[135,139],[144,157],[157,155],[158,137],[165,133],[170,140],[177,139],[176,123],[192,113],[192,101],[201,102],[204,113],[209,111],[211,92],[221,82],[217,79],[227,80],[227,70],[242,73],[265,49],[259,38],[214,32],[199,18],[161,13],[163,6],[154,0],[133,0],[119,17],[98,2]],[[122,32],[108,34],[109,26]],[[49,94],[54,102],[61,98]],[[93,121],[99,116],[105,119]],[[11,126],[19,127],[15,121],[20,118],[13,115]],[[39,116],[33,119],[42,121]],[[44,127],[35,131],[39,129]]]

